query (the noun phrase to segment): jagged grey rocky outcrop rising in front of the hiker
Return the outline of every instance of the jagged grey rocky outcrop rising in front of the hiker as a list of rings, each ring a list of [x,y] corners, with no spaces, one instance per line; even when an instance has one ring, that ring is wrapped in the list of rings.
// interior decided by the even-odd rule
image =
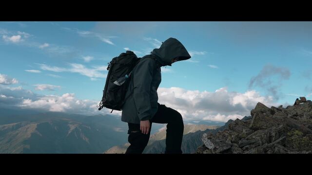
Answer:
[[[203,134],[196,153],[312,153],[312,101],[271,108],[258,103],[252,118],[236,119],[216,134]]]

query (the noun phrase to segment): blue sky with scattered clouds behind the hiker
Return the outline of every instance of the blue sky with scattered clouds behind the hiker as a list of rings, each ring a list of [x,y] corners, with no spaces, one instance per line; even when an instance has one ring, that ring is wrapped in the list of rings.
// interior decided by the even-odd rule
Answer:
[[[312,22],[0,22],[0,107],[105,114],[107,63],[178,39],[191,59],[162,67],[159,103],[184,120],[250,115],[312,96]],[[121,112],[112,114],[120,116]]]

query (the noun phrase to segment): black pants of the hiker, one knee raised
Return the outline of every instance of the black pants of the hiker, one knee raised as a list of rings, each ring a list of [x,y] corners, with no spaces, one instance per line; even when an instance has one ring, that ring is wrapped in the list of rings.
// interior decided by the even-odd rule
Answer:
[[[158,103],[158,110],[155,116],[150,120],[150,123],[151,127],[152,123],[168,123],[165,153],[182,154],[181,144],[184,125],[179,112]],[[140,131],[140,124],[128,123],[128,126],[128,141],[130,146],[125,154],[141,154],[150,139],[151,128],[148,134],[142,134]]]

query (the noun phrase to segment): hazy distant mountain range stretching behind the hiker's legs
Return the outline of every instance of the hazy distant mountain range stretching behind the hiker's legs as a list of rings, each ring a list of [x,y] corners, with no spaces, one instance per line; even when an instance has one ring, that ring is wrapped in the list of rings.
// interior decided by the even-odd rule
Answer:
[[[183,145],[186,145],[182,147],[187,152],[202,144],[199,144],[200,139],[191,140],[193,135],[223,124],[209,121],[184,123]],[[211,123],[215,126],[208,126]],[[153,123],[151,139],[144,153],[164,152],[165,128],[164,124]],[[127,130],[127,123],[113,115],[85,116],[0,108],[0,153],[103,153],[108,149],[120,152],[128,147],[124,145],[128,142]],[[116,145],[123,145],[123,148],[114,147]]]

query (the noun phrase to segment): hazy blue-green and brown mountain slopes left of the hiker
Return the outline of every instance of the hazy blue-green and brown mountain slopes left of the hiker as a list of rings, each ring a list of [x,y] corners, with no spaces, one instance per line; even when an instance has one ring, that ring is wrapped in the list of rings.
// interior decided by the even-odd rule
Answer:
[[[11,115],[0,124],[0,153],[102,153],[127,141],[126,123],[109,115]]]

